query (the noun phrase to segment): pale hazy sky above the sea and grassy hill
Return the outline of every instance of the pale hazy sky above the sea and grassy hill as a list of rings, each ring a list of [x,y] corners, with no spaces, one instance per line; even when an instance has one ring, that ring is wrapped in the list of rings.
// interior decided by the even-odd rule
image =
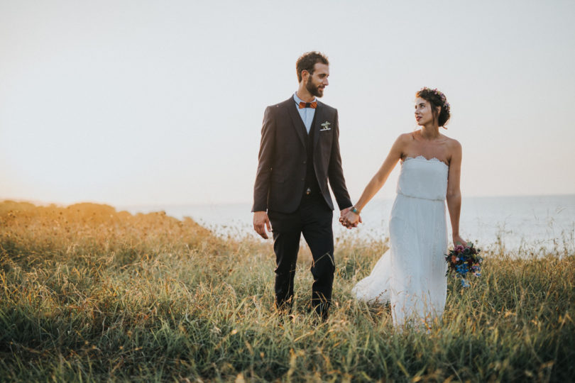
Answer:
[[[574,19],[571,0],[0,0],[0,199],[250,203],[263,111],[310,50],[352,200],[424,86],[451,104],[464,197],[575,194]]]

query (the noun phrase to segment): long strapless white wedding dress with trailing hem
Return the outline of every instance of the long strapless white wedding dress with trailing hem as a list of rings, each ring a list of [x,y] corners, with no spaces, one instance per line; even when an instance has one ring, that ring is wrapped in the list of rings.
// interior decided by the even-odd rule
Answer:
[[[395,326],[430,326],[447,297],[445,195],[449,167],[437,158],[407,157],[389,222],[390,248],[352,294],[389,302]]]

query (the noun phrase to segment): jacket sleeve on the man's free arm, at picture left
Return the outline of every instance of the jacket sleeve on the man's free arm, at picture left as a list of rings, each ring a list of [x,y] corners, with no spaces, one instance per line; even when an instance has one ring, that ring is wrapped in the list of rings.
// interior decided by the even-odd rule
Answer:
[[[258,171],[253,186],[253,207],[251,211],[268,210],[268,192],[273,165],[275,145],[275,116],[273,106],[268,106],[263,113],[261,128],[260,153],[258,155]]]

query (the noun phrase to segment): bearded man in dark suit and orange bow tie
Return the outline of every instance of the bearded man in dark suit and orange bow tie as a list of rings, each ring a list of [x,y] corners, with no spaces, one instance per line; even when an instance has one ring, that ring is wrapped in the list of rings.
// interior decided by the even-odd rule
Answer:
[[[329,77],[327,57],[307,52],[296,62],[300,85],[289,99],[263,115],[258,171],[253,190],[253,228],[268,238],[273,228],[275,306],[289,311],[300,235],[312,251],[312,306],[327,318],[334,282],[334,204],[341,215],[351,200],[341,170],[336,109],[317,98]],[[271,227],[270,227],[271,226]]]

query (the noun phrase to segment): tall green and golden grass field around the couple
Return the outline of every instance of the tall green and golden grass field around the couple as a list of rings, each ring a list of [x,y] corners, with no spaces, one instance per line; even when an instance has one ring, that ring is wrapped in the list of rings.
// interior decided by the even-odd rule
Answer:
[[[575,254],[486,252],[450,279],[441,326],[397,331],[351,287],[385,243],[338,240],[334,306],[317,324],[310,256],[295,316],[273,313],[271,243],[190,218],[0,203],[1,381],[575,380]]]

